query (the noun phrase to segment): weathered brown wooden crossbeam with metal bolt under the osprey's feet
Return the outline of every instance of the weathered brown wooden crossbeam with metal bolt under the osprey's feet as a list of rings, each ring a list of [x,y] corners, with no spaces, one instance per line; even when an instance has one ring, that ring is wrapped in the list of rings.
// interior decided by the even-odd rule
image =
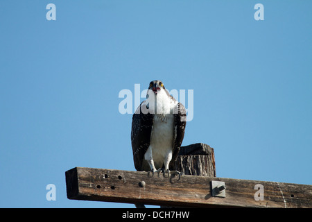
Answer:
[[[74,200],[181,207],[312,207],[312,185],[187,175],[177,180],[162,173],[83,167],[65,174],[67,197]],[[211,180],[225,182],[224,198],[212,196]]]

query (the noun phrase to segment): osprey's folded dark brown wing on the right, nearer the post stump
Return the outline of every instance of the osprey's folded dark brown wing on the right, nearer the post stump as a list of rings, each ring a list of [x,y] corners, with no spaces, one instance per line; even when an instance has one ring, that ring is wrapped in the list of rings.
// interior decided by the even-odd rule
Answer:
[[[180,151],[180,147],[184,138],[185,126],[187,126],[187,110],[182,103],[177,104],[177,110],[174,112],[174,138],[173,138],[173,155],[169,165],[169,169],[175,168],[175,160]]]

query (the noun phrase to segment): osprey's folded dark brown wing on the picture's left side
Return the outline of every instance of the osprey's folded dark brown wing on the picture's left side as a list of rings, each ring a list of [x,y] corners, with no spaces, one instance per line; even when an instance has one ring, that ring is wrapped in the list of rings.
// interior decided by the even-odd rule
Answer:
[[[142,112],[143,110],[143,112]],[[133,161],[135,162],[135,169],[143,171],[144,154],[150,146],[150,134],[152,133],[153,114],[149,112],[144,114],[146,104],[142,102],[137,108],[137,111],[132,116],[131,127],[131,145],[133,152]]]

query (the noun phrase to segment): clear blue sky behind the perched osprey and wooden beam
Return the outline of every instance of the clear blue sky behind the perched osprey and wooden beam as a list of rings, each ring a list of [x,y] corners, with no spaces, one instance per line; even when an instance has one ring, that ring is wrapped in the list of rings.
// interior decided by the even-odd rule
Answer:
[[[48,3],[56,21],[46,20]],[[119,92],[156,79],[193,89],[183,145],[213,147],[218,177],[311,185],[311,8],[0,1],[0,207],[134,207],[68,200],[65,171],[135,170]]]

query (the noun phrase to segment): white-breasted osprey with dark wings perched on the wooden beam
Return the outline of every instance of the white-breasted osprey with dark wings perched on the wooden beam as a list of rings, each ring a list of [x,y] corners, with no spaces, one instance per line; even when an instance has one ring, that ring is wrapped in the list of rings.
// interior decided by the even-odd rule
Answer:
[[[146,100],[132,117],[131,144],[137,171],[180,173],[174,169],[186,126],[186,110],[160,80],[150,82]]]

